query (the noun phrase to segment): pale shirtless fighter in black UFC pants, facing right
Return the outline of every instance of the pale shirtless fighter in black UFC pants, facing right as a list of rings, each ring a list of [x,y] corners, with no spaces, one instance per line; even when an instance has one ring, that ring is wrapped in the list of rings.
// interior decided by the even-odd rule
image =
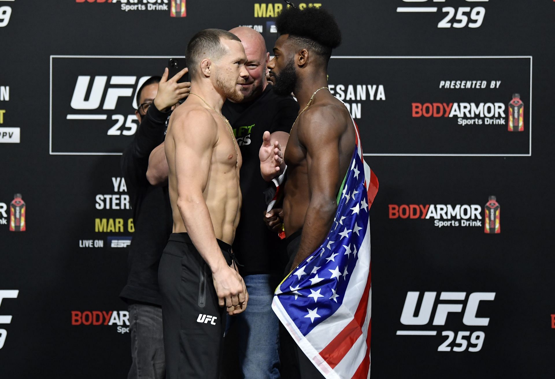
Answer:
[[[173,213],[158,271],[166,378],[218,379],[225,311],[241,313],[248,301],[231,252],[241,152],[221,106],[226,98],[243,99],[249,74],[241,40],[225,30],[195,34],[186,57],[190,94],[171,115],[165,138]]]

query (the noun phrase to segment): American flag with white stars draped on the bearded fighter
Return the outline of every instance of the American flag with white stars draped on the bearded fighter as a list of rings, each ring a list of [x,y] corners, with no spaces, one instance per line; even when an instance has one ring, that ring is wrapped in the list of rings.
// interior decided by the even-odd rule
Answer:
[[[326,379],[370,377],[370,227],[378,181],[356,148],[324,243],[282,281],[272,308]]]

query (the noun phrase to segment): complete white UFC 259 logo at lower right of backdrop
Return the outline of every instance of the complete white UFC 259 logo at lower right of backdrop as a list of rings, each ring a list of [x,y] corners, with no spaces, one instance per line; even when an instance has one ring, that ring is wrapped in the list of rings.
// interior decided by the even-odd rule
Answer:
[[[432,326],[445,325],[449,314],[462,314],[462,324],[466,326],[487,326],[490,323],[490,317],[478,317],[477,311],[481,301],[492,301],[495,299],[495,292],[473,292],[468,297],[466,292],[442,292],[440,294],[439,302],[435,307],[435,314],[432,319],[432,310],[436,304],[437,292],[425,292],[422,298],[422,303],[418,314],[416,314],[416,307],[418,298],[420,297],[419,291],[409,291],[405,298],[405,304],[401,312],[401,324],[407,326],[422,326],[429,325],[432,321]],[[450,301],[443,303],[442,301]],[[464,306],[466,303],[466,306]],[[464,308],[464,310],[463,310]],[[454,315],[451,317],[455,317]],[[430,329],[436,329],[431,327]],[[420,336],[435,336],[438,330],[397,330],[397,335],[420,335]],[[482,349],[483,342],[486,334],[483,331],[460,330],[451,331],[443,330],[442,336],[447,339],[437,348],[437,351],[470,351],[477,352]],[[455,344],[451,344],[453,340]]]

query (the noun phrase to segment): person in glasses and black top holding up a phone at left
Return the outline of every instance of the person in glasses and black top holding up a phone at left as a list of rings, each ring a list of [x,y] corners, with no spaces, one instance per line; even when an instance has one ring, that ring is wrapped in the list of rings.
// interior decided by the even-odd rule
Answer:
[[[152,76],[137,91],[135,111],[139,128],[123,152],[121,167],[132,201],[135,233],[129,248],[127,284],[120,293],[128,304],[132,365],[128,378],[165,377],[162,300],[158,264],[171,233],[168,186],[154,187],[146,177],[148,157],[164,141],[166,121],[173,107],[189,94],[190,83],[178,83],[181,70],[168,79]]]

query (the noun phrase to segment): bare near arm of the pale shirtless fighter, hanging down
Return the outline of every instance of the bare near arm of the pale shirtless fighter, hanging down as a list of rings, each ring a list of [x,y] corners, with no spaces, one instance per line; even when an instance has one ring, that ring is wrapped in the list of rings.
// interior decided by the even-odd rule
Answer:
[[[226,305],[230,314],[240,313],[245,308],[235,307],[246,304],[245,285],[221,253],[203,196],[218,126],[207,112],[195,110],[188,112],[186,121],[174,120],[172,127],[177,128],[171,135],[175,143],[177,206],[181,218],[195,248],[210,267],[220,306]]]

